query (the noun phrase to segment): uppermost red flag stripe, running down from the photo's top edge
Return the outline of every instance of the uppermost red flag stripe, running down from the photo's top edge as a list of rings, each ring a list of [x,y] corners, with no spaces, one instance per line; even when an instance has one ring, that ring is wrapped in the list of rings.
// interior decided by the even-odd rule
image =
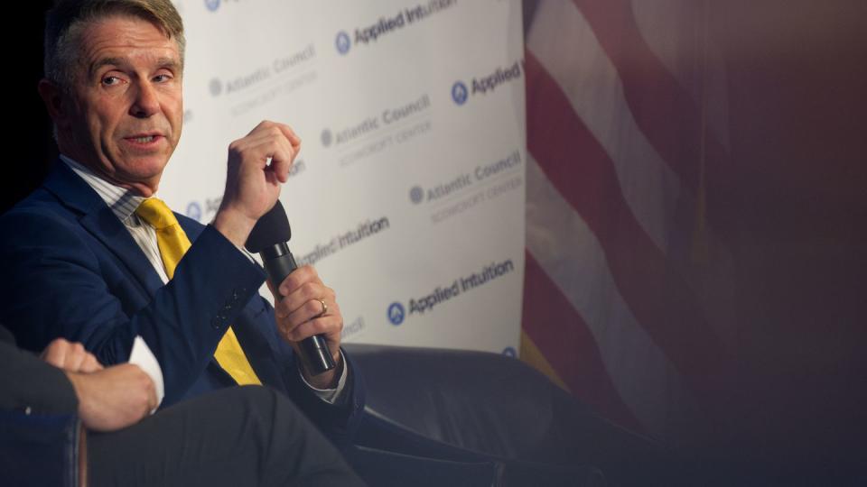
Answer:
[[[617,69],[629,111],[681,184],[695,194],[701,178],[702,111],[650,49],[628,0],[573,0]],[[698,16],[696,16],[698,19]],[[696,48],[695,55],[701,52]],[[713,225],[732,228],[731,171],[722,143],[707,133],[704,184]],[[717,235],[724,239],[725,233]]]

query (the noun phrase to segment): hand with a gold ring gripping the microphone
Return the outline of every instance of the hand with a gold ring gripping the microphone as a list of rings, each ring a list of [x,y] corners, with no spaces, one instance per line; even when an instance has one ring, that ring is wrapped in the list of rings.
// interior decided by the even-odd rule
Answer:
[[[274,292],[275,289],[271,289]],[[333,389],[343,369],[340,357],[340,331],[343,316],[334,289],[325,286],[319,274],[310,265],[299,267],[280,284],[283,299],[275,303],[277,330],[298,350],[298,342],[312,335],[323,335],[334,359],[331,371],[312,376],[303,369],[304,379],[317,389]],[[275,293],[275,296],[277,293]],[[324,305],[322,302],[324,301]],[[327,308],[327,311],[326,311]]]

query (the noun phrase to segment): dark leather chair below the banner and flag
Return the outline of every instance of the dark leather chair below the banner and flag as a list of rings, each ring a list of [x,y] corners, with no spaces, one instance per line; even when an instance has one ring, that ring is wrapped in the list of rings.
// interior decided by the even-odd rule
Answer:
[[[601,418],[514,358],[345,347],[366,382],[367,408],[356,438],[365,460],[353,464],[371,484],[667,483],[662,446]],[[377,455],[388,452],[401,456],[389,463],[387,455]]]

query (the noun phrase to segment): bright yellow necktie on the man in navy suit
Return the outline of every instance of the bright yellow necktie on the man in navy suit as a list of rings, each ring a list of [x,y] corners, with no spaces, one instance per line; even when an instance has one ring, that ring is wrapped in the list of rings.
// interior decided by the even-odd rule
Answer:
[[[156,243],[160,247],[165,274],[169,279],[172,279],[174,268],[178,266],[183,254],[190,248],[190,239],[187,238],[187,234],[178,224],[178,219],[174,217],[172,210],[161,199],[145,199],[135,209],[135,215],[156,229]],[[219,366],[228,372],[238,384],[262,384],[262,381],[256,377],[256,372],[253,372],[253,367],[247,361],[247,355],[241,349],[238,336],[235,335],[231,326],[226,330],[226,335],[223,335],[219,340],[214,358],[217,359]]]

